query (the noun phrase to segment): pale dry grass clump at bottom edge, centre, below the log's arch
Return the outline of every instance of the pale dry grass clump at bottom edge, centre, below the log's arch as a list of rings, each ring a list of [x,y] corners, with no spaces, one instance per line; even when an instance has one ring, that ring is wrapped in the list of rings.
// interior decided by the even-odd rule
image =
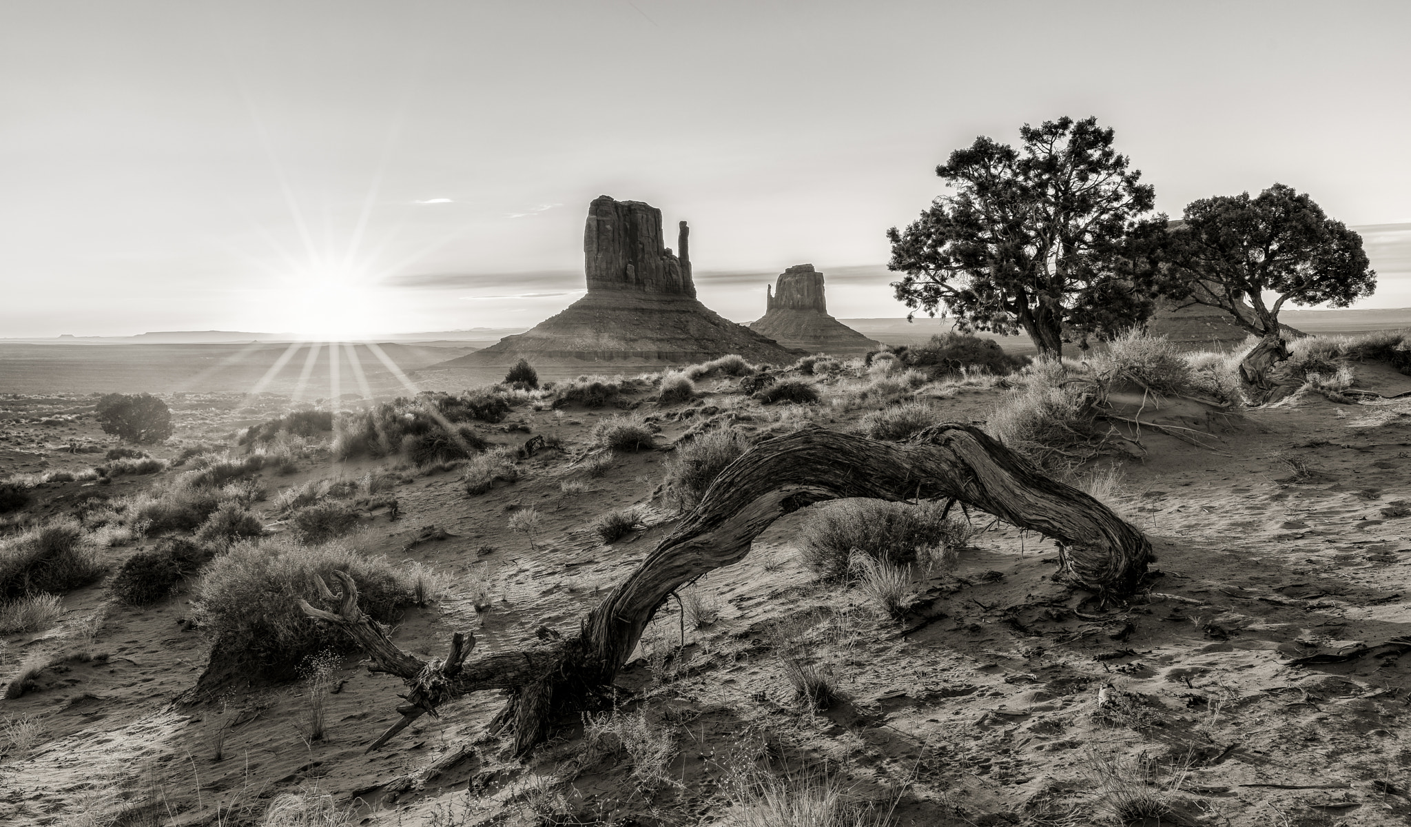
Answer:
[[[896,810],[896,802],[852,802],[842,782],[821,772],[741,771],[729,786],[737,804],[721,821],[725,827],[889,827]]]

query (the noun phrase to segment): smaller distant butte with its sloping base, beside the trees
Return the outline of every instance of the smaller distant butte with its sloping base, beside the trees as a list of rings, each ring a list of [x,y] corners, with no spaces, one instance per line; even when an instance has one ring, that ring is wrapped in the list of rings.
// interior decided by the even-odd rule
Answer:
[[[751,322],[749,329],[809,353],[851,356],[882,347],[828,315],[823,274],[811,264],[790,267],[779,274],[773,291],[765,288],[765,315]]]

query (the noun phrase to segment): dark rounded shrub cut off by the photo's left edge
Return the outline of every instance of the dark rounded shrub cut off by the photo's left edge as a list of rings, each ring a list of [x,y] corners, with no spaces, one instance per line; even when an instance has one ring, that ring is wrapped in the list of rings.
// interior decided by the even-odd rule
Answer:
[[[0,539],[0,598],[63,594],[103,576],[83,526],[72,517]]]

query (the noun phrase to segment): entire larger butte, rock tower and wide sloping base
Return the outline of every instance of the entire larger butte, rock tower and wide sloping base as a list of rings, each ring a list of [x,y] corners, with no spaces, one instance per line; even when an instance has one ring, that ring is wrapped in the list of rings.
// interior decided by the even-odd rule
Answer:
[[[439,367],[665,367],[738,353],[789,363],[800,354],[696,299],[686,222],[680,257],[662,244],[662,210],[598,196],[583,233],[588,294],[533,329]]]

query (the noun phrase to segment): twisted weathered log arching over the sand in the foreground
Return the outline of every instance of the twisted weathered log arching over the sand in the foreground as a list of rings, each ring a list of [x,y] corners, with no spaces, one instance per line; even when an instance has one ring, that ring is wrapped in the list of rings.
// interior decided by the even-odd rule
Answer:
[[[402,651],[357,605],[351,577],[334,572],[339,612],[302,603],[313,618],[347,631],[371,655],[374,670],[402,677],[411,692],[402,720],[381,747],[423,713],[450,699],[488,689],[511,699],[494,728],[512,727],[514,751],[540,742],[557,711],[580,707],[610,684],[656,610],[677,587],[749,553],[769,524],[824,500],[948,498],[988,511],[1058,541],[1061,579],[1103,594],[1132,591],[1153,560],[1146,536],[1092,497],[1037,471],[969,425],[935,425],[906,443],[806,428],[759,443],[731,463],[700,505],[646,560],[583,620],[571,638],[466,660],[474,636],[457,634],[444,662]],[[334,596],[320,581],[325,600]],[[545,635],[540,635],[545,636]]]

